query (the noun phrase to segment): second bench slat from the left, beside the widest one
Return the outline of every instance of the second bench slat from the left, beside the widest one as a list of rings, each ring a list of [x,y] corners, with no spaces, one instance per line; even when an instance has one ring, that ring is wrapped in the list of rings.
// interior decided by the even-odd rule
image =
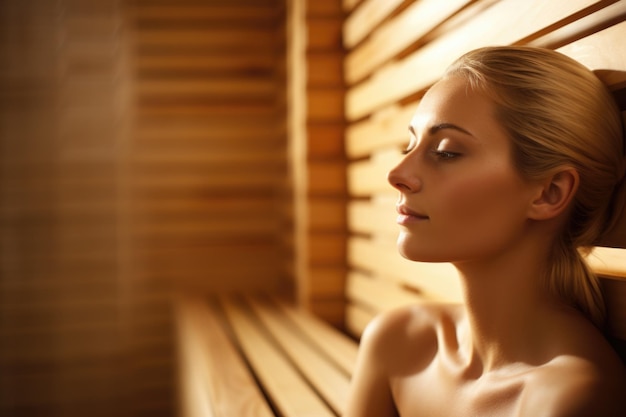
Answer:
[[[222,305],[246,358],[281,414],[285,417],[334,417],[241,305],[232,299],[222,299]]]

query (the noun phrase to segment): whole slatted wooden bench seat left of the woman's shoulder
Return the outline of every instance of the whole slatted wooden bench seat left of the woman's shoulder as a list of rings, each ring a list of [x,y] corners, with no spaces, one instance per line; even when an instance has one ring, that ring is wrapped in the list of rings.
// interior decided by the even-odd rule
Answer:
[[[342,415],[357,342],[277,298],[177,303],[181,414]]]

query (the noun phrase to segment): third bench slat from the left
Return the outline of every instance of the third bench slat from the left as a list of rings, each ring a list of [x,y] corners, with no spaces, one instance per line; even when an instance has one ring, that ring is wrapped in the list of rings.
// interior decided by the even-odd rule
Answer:
[[[296,333],[275,306],[247,297],[247,303],[276,339],[285,354],[310,381],[338,415],[343,415],[347,402],[350,377]]]

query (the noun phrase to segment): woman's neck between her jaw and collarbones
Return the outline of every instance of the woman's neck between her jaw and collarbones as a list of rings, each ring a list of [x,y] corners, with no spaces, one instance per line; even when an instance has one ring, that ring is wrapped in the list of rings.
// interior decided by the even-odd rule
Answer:
[[[469,360],[480,372],[536,359],[533,349],[546,336],[542,323],[558,305],[542,284],[545,253],[529,245],[489,262],[455,264],[471,334]]]

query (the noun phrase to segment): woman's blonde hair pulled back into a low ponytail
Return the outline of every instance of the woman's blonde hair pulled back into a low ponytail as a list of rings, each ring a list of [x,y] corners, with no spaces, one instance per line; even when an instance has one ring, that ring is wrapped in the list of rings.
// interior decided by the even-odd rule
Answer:
[[[541,48],[481,48],[455,61],[446,71],[451,75],[494,100],[524,178],[544,178],[564,165],[578,171],[579,188],[550,254],[546,284],[602,328],[604,297],[583,256],[619,211],[613,206],[624,176],[624,138],[610,93],[577,61]]]

